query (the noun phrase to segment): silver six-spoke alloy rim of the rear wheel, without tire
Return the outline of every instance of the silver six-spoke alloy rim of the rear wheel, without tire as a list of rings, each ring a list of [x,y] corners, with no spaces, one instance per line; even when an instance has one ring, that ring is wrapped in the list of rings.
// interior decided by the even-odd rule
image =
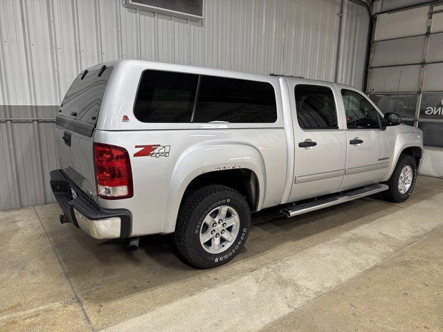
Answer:
[[[221,205],[209,212],[201,223],[201,246],[211,254],[223,252],[234,243],[239,228],[237,211],[228,205]]]

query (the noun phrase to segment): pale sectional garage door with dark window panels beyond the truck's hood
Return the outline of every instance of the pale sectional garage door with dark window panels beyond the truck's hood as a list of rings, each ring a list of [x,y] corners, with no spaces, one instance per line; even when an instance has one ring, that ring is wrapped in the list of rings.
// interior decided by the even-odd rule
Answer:
[[[443,147],[441,2],[376,16],[368,91],[382,111],[422,129],[426,147]]]

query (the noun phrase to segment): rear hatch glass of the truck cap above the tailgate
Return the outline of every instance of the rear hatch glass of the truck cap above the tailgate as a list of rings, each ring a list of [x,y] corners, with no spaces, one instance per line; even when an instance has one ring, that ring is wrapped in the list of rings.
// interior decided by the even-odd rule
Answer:
[[[57,115],[96,124],[98,111],[113,68],[112,66],[107,67],[100,76],[98,74],[101,68],[98,68],[88,72],[83,79],[84,72],[80,73],[66,92],[62,107]]]

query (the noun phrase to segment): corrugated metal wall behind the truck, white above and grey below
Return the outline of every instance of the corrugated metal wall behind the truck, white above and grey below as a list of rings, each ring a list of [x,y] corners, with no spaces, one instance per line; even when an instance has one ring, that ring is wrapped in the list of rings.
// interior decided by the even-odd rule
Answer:
[[[2,0],[0,119],[51,119],[82,68],[146,59],[361,87],[368,16],[344,0],[204,0],[192,21],[120,0]],[[341,29],[339,26],[341,24]],[[0,120],[0,210],[53,202],[53,123]]]

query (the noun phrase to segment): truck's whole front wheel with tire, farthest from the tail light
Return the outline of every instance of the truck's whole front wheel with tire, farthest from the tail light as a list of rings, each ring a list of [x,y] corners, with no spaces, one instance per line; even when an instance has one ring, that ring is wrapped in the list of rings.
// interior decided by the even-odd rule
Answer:
[[[415,181],[417,181],[415,159],[408,154],[401,154],[387,182],[389,189],[382,192],[383,199],[394,203],[406,201],[414,190]]]

